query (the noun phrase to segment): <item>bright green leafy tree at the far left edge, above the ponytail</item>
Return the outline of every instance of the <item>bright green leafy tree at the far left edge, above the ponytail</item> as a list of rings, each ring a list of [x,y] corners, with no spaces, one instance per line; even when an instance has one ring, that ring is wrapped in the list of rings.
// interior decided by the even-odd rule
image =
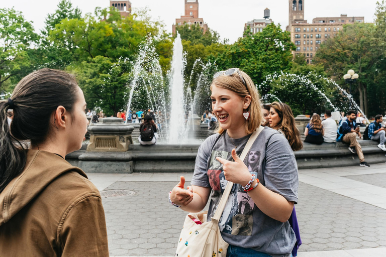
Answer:
[[[27,50],[38,39],[20,12],[0,9],[0,90],[4,82],[30,67]]]

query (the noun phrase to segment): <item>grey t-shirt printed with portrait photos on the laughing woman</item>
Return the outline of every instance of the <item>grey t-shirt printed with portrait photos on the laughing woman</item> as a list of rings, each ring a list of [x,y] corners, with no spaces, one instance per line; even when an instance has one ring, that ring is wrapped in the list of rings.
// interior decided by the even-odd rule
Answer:
[[[232,142],[227,133],[220,138],[217,134],[207,138],[199,148],[191,185],[212,188],[208,220],[213,217],[227,184],[222,164],[216,158],[233,161],[232,149],[236,145],[236,153],[240,156],[249,137],[250,135]],[[249,172],[255,174],[266,188],[288,201],[298,202],[297,163],[283,135],[265,127],[244,163]],[[253,248],[272,256],[288,256],[296,242],[295,233],[288,221],[282,223],[265,215],[240,184],[235,184],[232,188],[219,227],[221,235],[229,244]]]

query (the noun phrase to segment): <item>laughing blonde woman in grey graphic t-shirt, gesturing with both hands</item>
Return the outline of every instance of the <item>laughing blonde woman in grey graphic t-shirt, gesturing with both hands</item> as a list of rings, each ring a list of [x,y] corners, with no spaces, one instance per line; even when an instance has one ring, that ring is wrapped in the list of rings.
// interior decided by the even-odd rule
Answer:
[[[298,201],[299,183],[294,153],[282,135],[265,127],[250,149],[254,165],[248,167],[248,158],[243,162],[238,156],[263,118],[255,85],[245,72],[232,68],[215,74],[211,91],[219,129],[200,146],[192,186],[185,189],[181,176],[169,202],[199,212],[211,200],[211,219],[221,198],[220,178],[225,177],[235,183],[219,222],[222,237],[230,244],[227,256],[291,256],[296,236],[288,218]],[[218,151],[228,154],[216,158],[222,164],[218,170],[210,170],[212,155]]]

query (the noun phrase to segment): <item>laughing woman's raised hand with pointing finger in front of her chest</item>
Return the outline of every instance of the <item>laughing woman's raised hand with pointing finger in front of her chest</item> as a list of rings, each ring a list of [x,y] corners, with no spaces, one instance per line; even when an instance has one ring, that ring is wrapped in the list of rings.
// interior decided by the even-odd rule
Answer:
[[[225,179],[241,186],[246,186],[251,179],[251,173],[248,167],[237,156],[236,150],[232,149],[232,157],[234,162],[217,157],[216,160],[223,164]]]

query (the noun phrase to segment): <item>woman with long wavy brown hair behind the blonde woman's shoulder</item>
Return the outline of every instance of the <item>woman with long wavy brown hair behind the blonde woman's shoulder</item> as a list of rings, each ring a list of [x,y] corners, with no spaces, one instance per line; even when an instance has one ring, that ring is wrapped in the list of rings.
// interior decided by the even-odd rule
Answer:
[[[285,136],[293,151],[299,151],[303,148],[294,114],[288,104],[283,102],[271,103],[268,118],[272,129]]]

